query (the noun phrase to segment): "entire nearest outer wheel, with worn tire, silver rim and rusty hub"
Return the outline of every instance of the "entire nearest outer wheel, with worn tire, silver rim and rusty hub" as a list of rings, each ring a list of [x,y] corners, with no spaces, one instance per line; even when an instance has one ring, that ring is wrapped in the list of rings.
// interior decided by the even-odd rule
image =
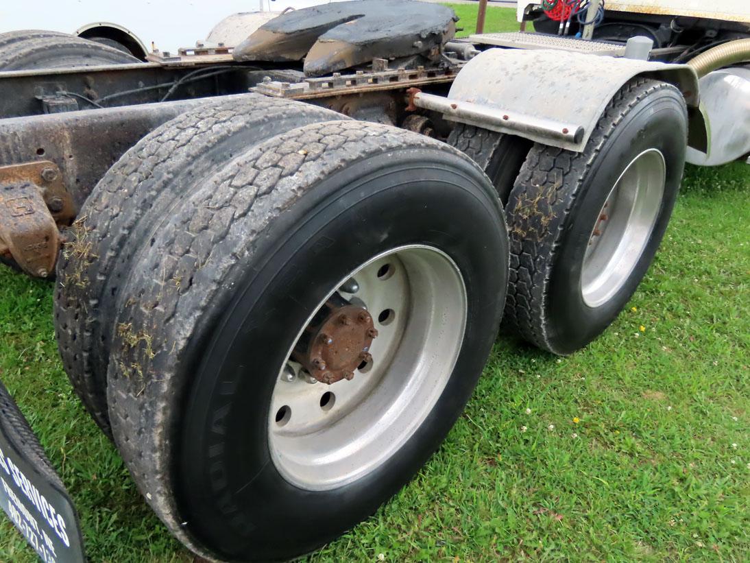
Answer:
[[[353,121],[181,189],[121,290],[115,443],[199,555],[293,558],[374,513],[462,411],[502,314],[502,209],[455,149]]]

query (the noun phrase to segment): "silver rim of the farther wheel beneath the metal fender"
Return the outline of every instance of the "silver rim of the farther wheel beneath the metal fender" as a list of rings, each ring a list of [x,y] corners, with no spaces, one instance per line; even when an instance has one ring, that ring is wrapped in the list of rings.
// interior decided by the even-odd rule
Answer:
[[[592,228],[581,271],[583,302],[607,303],[628,281],[656,224],[667,165],[658,149],[637,155],[610,190]]]

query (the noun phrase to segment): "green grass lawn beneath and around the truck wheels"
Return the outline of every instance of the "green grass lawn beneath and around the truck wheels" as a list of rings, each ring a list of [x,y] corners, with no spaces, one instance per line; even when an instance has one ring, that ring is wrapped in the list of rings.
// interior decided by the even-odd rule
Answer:
[[[311,559],[747,560],[748,198],[750,167],[688,167],[612,327],[565,359],[500,336],[440,451]],[[0,378],[68,486],[91,560],[192,561],[71,390],[51,285],[0,269],[0,330]],[[35,560],[1,517],[0,561]]]

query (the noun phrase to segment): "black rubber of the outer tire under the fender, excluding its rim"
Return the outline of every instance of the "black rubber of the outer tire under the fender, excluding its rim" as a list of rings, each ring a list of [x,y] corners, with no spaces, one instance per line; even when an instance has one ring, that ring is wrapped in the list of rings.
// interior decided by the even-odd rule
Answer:
[[[511,330],[553,354],[570,354],[611,324],[645,275],[667,228],[686,143],[687,110],[679,90],[636,79],[607,106],[583,152],[533,147],[506,206],[511,275],[505,322]],[[589,306],[581,289],[589,237],[610,189],[648,149],[658,149],[666,164],[655,223],[619,290],[601,305]]]

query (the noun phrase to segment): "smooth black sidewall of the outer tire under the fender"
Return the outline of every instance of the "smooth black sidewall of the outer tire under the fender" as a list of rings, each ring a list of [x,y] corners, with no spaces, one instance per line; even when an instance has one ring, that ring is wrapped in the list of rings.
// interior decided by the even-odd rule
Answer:
[[[686,119],[682,96],[676,89],[657,91],[636,104],[616,125],[613,133],[584,173],[579,194],[562,227],[560,253],[549,281],[547,336],[559,354],[569,354],[603,332],[619,315],[658,249],[679,191],[685,167]],[[634,269],[606,303],[590,307],[583,301],[583,255],[595,222],[610,189],[625,167],[648,149],[658,149],[666,163],[664,196],[649,241]]]

